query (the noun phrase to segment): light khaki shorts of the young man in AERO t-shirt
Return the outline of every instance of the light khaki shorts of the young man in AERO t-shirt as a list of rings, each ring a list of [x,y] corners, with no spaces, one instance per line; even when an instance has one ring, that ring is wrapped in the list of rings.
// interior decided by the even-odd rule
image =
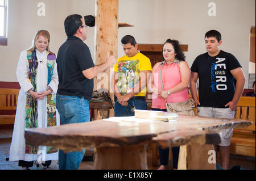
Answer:
[[[214,107],[197,107],[198,116],[215,117],[215,118],[230,118],[233,119],[235,112],[230,108],[214,108]],[[220,146],[229,146],[230,139],[233,135],[233,128],[224,129],[220,132]]]

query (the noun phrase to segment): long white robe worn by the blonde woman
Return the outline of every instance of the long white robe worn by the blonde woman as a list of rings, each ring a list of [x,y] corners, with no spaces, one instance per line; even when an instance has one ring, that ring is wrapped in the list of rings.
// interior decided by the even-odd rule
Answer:
[[[36,50],[36,57],[38,58],[38,73],[36,74],[36,89],[37,92],[43,92],[47,90],[47,87],[51,87],[53,90],[52,94],[57,93],[57,86],[59,83],[58,75],[57,75],[57,64],[55,62],[52,80],[47,85],[48,79],[48,69],[47,69],[47,53],[44,51],[40,53]],[[40,63],[40,61],[42,61]],[[26,116],[26,92],[33,88],[30,80],[28,79],[28,60],[27,60],[27,50],[23,50],[19,56],[19,62],[16,69],[16,76],[21,87],[18,96],[16,115],[15,115],[15,123],[13,130],[13,138],[11,140],[10,147],[10,161],[49,161],[49,160],[57,160],[59,159],[58,152],[51,154],[46,153],[46,146],[39,146],[38,154],[25,154],[25,138],[24,138],[24,130],[25,130],[25,116]],[[47,127],[47,112],[46,112],[46,97],[42,100],[38,100],[38,128]],[[56,110],[56,121],[57,125],[60,125],[60,116]],[[42,159],[41,159],[42,158]]]

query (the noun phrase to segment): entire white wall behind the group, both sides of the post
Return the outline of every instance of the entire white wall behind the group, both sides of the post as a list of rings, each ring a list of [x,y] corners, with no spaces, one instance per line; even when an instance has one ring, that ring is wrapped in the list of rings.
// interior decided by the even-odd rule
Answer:
[[[38,16],[38,2],[46,3],[46,16]],[[217,16],[208,16],[208,3],[216,3]],[[57,53],[65,41],[64,19],[69,14],[95,15],[95,0],[9,0],[8,46],[0,46],[0,81],[16,82],[19,53],[31,45],[40,29],[51,33],[50,48]],[[118,57],[123,55],[121,39],[133,35],[137,43],[163,44],[168,38],[188,44],[189,66],[204,53],[208,30],[222,34],[221,48],[234,54],[243,72],[249,72],[250,27],[255,26],[255,0],[119,0]],[[94,30],[88,28],[85,43],[94,58]],[[247,87],[247,82],[246,86]]]

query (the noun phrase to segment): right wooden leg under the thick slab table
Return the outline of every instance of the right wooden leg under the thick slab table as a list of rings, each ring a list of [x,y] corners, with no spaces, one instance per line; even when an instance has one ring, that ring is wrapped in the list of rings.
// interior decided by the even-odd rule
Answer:
[[[180,146],[178,170],[216,170],[213,145]]]

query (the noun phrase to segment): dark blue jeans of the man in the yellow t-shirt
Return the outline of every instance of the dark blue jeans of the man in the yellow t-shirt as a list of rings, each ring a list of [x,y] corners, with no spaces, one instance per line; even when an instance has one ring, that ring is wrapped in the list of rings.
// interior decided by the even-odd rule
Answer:
[[[146,99],[144,97],[139,96],[139,98],[136,98],[136,96],[133,96],[131,99],[128,100],[128,106],[122,106],[120,103],[115,101],[115,117],[121,117],[121,116],[134,116],[134,112],[131,111],[131,108],[133,108],[133,105],[135,105],[137,110],[147,110],[147,103]]]

